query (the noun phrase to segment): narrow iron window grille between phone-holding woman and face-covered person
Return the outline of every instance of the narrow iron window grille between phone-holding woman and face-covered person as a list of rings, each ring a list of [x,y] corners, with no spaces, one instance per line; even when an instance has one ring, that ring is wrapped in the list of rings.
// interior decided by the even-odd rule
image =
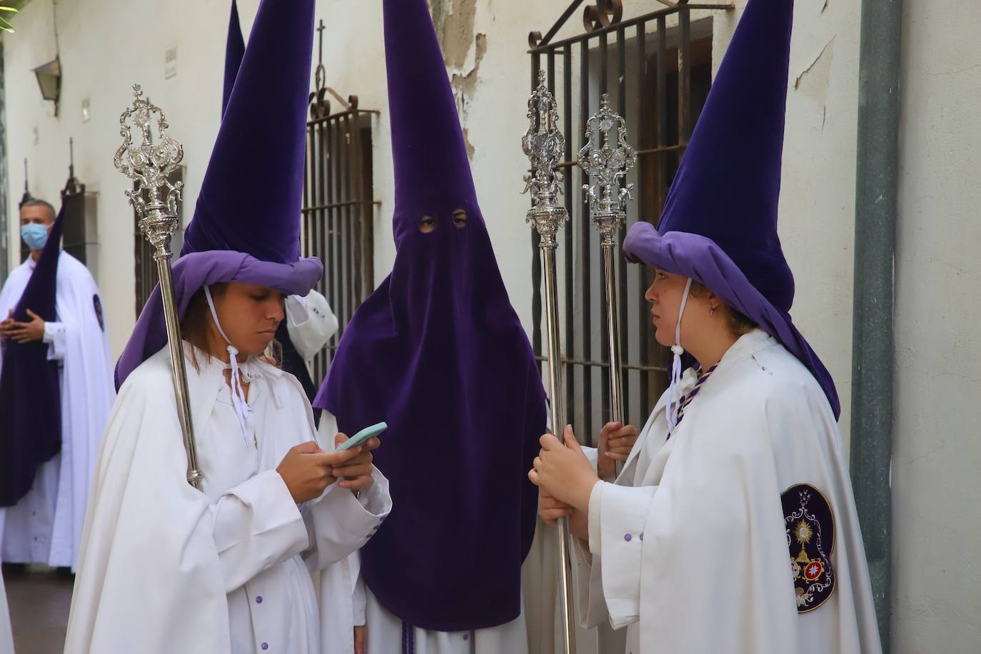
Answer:
[[[331,113],[331,94],[342,111]],[[303,256],[320,257],[324,278],[317,284],[337,317],[340,330],[313,362],[313,379],[327,374],[337,343],[354,310],[375,289],[372,176],[372,119],[378,112],[358,108],[323,85],[311,94],[303,188]]]

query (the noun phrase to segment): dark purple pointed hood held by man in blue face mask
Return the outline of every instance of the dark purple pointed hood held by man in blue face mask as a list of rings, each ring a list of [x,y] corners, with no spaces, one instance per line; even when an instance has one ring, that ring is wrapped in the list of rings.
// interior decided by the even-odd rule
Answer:
[[[27,280],[14,310],[14,320],[29,322],[27,309],[45,322],[58,320],[58,260],[64,215],[63,208]],[[7,507],[14,506],[27,494],[37,468],[61,451],[62,415],[58,362],[48,361],[48,344],[39,340],[4,341],[2,347],[0,507]]]

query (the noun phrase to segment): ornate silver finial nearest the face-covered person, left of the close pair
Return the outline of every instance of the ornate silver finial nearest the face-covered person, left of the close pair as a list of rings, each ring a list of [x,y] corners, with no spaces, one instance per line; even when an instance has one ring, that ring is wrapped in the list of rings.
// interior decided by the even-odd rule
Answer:
[[[558,203],[562,174],[555,170],[565,152],[565,137],[558,129],[558,106],[545,86],[544,71],[539,71],[539,86],[528,99],[528,122],[521,147],[531,161],[532,172],[525,175],[524,192],[532,191],[534,203],[526,222],[539,230],[543,248],[554,248],[555,233],[569,218],[569,212]]]

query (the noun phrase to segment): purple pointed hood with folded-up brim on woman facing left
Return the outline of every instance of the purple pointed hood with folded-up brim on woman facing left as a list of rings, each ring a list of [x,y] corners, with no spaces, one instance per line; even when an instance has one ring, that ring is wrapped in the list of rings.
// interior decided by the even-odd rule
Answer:
[[[793,0],[749,0],[671,184],[660,223],[623,249],[705,284],[810,370],[835,416],[834,380],[794,327],[794,276],[777,235]]]

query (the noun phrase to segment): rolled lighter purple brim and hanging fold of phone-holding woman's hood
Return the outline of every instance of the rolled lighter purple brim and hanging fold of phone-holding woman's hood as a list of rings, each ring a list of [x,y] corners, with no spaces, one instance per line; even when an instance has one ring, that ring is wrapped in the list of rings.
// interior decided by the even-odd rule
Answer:
[[[261,261],[241,252],[215,250],[197,252],[181,257],[174,264],[174,297],[178,313],[183,317],[190,298],[204,285],[220,281],[262,284],[284,293],[305,295],[324,274],[320,260],[312,257],[293,264]],[[137,366],[156,354],[167,344],[164,324],[164,305],[160,286],[153,289],[143,311],[133,327],[129,342],[116,364],[117,390]]]

